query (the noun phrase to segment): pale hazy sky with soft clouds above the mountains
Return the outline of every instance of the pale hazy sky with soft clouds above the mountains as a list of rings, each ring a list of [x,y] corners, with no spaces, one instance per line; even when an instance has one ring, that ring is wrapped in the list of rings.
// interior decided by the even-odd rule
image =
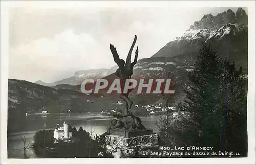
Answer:
[[[237,8],[12,8],[9,78],[53,82],[76,70],[115,65],[110,43],[125,59],[138,39],[139,59],[153,56],[204,14]],[[132,58],[134,58],[135,50]]]

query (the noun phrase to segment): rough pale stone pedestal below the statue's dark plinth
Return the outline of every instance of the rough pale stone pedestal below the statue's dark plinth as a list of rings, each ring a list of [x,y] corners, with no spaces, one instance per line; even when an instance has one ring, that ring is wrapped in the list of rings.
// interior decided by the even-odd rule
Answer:
[[[142,135],[135,137],[124,137],[120,135],[106,135],[106,149],[115,158],[140,157],[143,148],[154,148],[158,144],[158,135]]]

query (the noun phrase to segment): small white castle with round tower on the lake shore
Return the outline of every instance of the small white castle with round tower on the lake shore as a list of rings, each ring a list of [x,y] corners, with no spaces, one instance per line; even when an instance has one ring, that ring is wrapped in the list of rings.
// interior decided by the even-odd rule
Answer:
[[[69,124],[64,122],[63,127],[57,127],[56,129],[54,129],[53,137],[55,138],[55,143],[56,140],[68,140],[69,138],[71,138],[72,132],[69,132]]]

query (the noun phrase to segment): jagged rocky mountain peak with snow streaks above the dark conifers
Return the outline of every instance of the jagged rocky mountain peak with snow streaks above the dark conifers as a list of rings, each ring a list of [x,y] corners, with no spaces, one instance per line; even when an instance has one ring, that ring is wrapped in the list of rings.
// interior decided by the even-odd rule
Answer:
[[[216,16],[206,14],[201,20],[195,21],[189,30],[168,42],[152,57],[183,56],[187,58],[185,60],[193,61],[192,56],[196,58],[195,55],[198,54],[202,42],[212,43],[220,55],[225,55],[226,40],[228,39],[230,52],[232,52],[230,53],[230,60],[247,68],[247,59],[238,58],[247,55],[247,22],[247,14],[242,8],[239,8],[237,13],[227,10]]]

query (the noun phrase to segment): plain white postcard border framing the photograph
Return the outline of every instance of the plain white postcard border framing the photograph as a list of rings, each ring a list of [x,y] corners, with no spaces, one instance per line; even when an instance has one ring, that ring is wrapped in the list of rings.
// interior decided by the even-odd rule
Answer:
[[[247,7],[248,44],[248,157],[247,158],[134,158],[134,159],[7,159],[8,8],[71,7]],[[1,163],[3,164],[253,164],[255,163],[255,1],[1,1]]]

